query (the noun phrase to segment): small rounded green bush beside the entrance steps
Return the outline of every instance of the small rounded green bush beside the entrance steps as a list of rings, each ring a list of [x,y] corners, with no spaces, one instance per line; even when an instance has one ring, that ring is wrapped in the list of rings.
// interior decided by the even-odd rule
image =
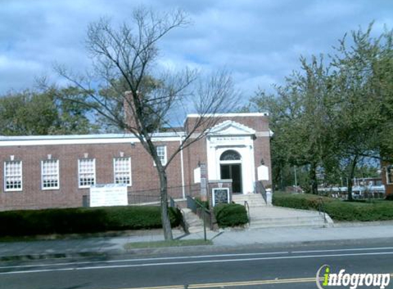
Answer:
[[[237,203],[216,205],[214,215],[219,227],[235,227],[248,223],[246,208]]]

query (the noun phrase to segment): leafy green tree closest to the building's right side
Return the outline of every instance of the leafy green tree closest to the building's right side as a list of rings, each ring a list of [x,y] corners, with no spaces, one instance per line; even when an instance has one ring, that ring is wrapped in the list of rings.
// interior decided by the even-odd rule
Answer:
[[[284,86],[276,86],[275,95],[264,92],[252,98],[252,107],[270,112],[273,175],[281,178],[281,169],[307,166],[309,188],[317,193],[317,170],[325,158],[329,139],[329,94],[331,79],[323,58],[313,57],[311,63],[300,59],[301,70],[287,77]],[[281,182],[281,181],[280,181]]]

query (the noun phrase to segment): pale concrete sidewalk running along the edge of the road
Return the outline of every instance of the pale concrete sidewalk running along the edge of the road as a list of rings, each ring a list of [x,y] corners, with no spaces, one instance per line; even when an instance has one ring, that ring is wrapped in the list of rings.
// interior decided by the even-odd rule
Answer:
[[[174,238],[200,239],[203,233],[184,235],[174,230]],[[392,238],[393,223],[339,224],[330,228],[270,228],[239,229],[209,232],[212,246],[198,247],[198,251],[230,249],[233,247],[284,247],[286,244],[301,242],[354,241]],[[29,260],[53,257],[81,257],[88,255],[117,255],[123,253],[174,253],[189,247],[160,249],[134,249],[127,251],[124,245],[129,242],[150,242],[163,240],[160,230],[140,232],[139,236],[83,238],[74,240],[41,240],[29,242],[0,242],[0,261]]]

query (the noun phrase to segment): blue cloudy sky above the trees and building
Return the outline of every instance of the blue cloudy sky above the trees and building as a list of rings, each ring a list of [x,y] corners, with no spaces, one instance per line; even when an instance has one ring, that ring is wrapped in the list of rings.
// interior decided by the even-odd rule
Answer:
[[[300,55],[333,52],[345,32],[371,21],[375,35],[383,25],[393,28],[390,0],[0,0],[0,95],[31,88],[43,75],[61,83],[54,62],[84,71],[88,23],[101,16],[127,21],[140,5],[182,8],[193,22],[159,43],[160,64],[206,73],[226,68],[245,99],[282,83]]]

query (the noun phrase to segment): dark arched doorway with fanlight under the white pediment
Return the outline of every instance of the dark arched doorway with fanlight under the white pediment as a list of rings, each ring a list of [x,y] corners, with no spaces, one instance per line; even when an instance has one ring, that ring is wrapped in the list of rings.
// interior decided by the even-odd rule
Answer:
[[[232,179],[232,190],[241,193],[241,156],[237,151],[229,149],[219,157],[221,179]]]

